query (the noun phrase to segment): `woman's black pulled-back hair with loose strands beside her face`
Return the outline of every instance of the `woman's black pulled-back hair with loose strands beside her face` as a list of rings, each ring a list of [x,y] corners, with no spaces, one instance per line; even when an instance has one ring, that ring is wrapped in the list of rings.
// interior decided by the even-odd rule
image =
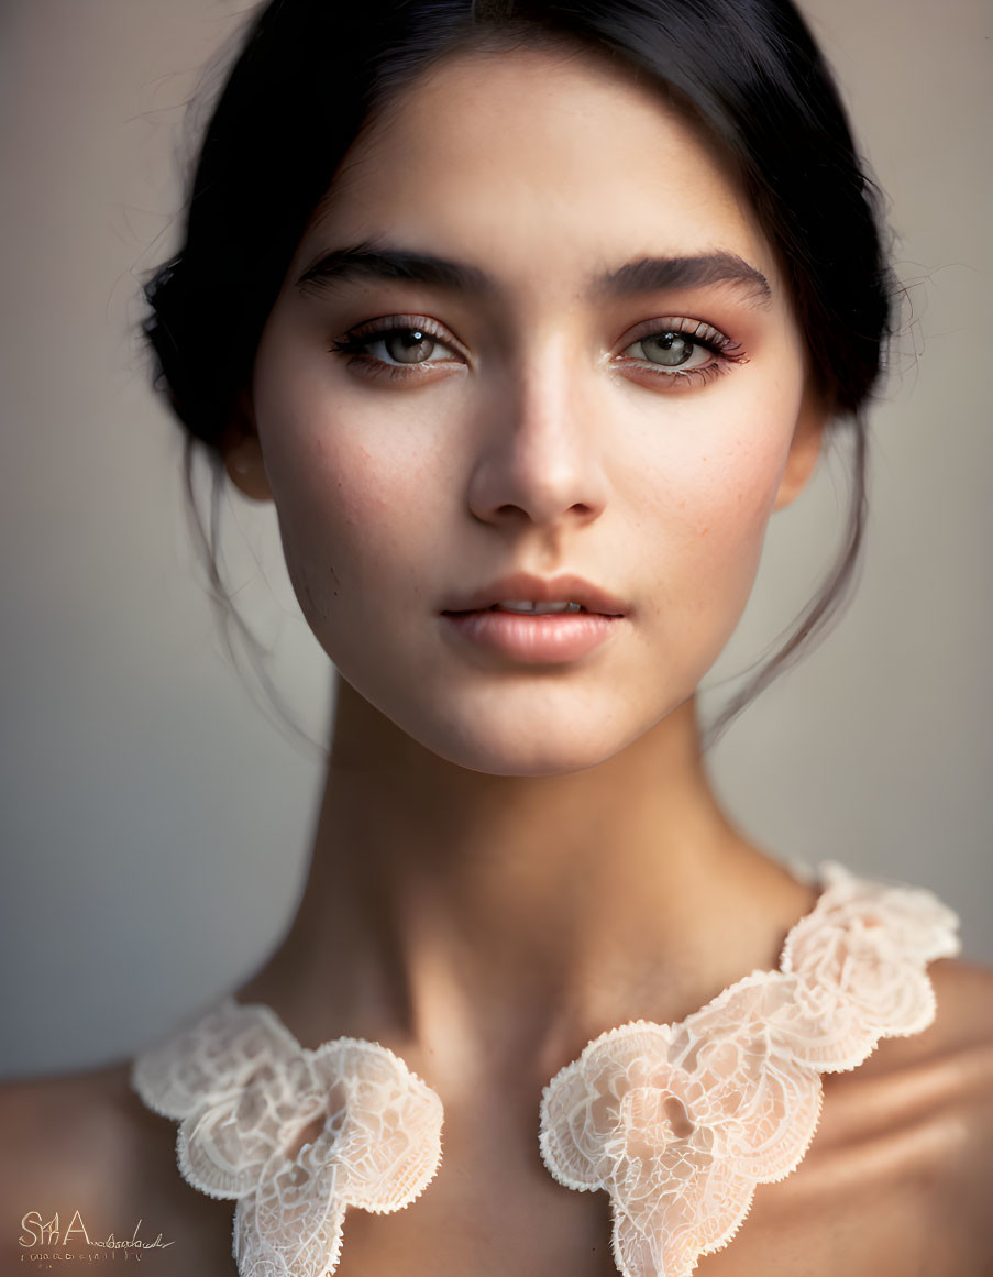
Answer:
[[[263,326],[359,133],[442,57],[549,43],[657,86],[725,153],[791,286],[816,386],[855,434],[840,558],[790,640],[711,725],[710,744],[840,614],[865,522],[862,411],[891,331],[879,194],[789,0],[274,0],[253,19],[207,129],[185,243],[146,287],[144,332],[188,430],[188,489],[197,439],[217,498],[221,442]],[[216,531],[214,521],[209,541],[204,533],[211,552]],[[212,576],[220,586],[216,564]]]

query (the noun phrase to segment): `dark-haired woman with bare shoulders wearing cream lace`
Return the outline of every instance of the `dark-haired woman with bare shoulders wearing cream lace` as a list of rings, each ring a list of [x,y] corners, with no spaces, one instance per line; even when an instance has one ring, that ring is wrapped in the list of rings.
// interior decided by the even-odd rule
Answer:
[[[798,15],[273,4],[149,292],[341,677],[283,944],[65,1082],[61,1174],[161,1272],[231,1272],[235,1200],[253,1273],[988,1271],[989,974],[927,893],[788,873],[702,761],[768,520],[826,432],[862,458],[890,324]]]

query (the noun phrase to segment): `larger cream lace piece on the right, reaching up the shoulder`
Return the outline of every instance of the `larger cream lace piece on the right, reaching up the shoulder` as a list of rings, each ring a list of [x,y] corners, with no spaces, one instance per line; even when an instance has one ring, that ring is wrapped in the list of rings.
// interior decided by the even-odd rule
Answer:
[[[836,861],[819,877],[779,971],[745,976],[679,1024],[610,1029],[544,1089],[545,1166],[567,1188],[610,1194],[624,1277],[688,1277],[726,1246],[756,1185],[785,1179],[809,1148],[821,1074],[934,1018],[925,967],[959,953],[953,911]]]

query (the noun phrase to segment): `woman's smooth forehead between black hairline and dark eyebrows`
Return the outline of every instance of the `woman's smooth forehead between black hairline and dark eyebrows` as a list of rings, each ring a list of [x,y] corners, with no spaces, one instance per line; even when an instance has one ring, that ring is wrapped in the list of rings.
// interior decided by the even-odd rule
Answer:
[[[587,54],[433,66],[352,146],[297,253],[396,239],[508,287],[574,289],[638,254],[775,261],[729,167],[662,94]]]

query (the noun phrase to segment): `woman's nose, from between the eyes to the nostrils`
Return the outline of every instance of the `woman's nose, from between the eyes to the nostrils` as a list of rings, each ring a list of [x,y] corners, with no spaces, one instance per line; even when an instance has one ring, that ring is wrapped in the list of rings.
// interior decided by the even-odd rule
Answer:
[[[481,387],[468,507],[486,524],[591,522],[608,499],[608,434],[591,378],[563,344],[531,356]]]

